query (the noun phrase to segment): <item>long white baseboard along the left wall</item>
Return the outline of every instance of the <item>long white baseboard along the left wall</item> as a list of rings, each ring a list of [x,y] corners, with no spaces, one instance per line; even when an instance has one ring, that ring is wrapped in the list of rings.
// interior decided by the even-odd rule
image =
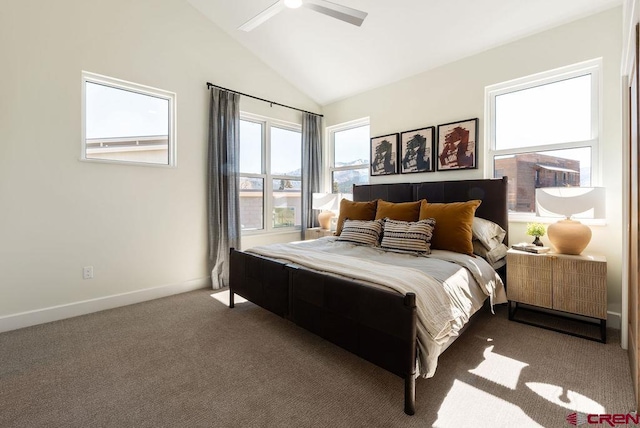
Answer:
[[[160,287],[115,294],[97,299],[84,300],[66,305],[52,306],[0,317],[0,333],[30,327],[46,322],[58,321],[65,318],[77,317],[106,309],[118,308],[134,303],[146,302],[187,291],[211,287],[211,278],[199,278],[177,284],[162,285]]]

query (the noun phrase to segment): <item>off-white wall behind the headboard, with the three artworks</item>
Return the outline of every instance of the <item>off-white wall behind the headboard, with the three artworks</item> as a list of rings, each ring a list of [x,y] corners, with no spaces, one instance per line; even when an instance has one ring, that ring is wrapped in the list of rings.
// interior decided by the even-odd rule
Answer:
[[[483,178],[485,159],[484,89],[488,85],[603,58],[602,182],[607,188],[607,225],[594,226],[587,252],[608,260],[609,310],[621,310],[622,258],[622,99],[620,61],[622,8],[575,21],[388,86],[324,107],[326,125],[370,116],[371,135],[480,118],[477,170],[375,177],[372,182]],[[425,41],[437,43],[437,41]],[[416,55],[419,55],[416,52]],[[512,242],[530,240],[525,223],[511,223]]]

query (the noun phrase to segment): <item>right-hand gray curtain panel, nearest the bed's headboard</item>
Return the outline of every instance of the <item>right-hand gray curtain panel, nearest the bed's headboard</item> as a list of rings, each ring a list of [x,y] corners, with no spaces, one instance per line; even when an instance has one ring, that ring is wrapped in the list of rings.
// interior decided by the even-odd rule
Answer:
[[[313,193],[320,191],[322,168],[322,117],[302,113],[302,239],[305,229],[317,226],[311,209]]]

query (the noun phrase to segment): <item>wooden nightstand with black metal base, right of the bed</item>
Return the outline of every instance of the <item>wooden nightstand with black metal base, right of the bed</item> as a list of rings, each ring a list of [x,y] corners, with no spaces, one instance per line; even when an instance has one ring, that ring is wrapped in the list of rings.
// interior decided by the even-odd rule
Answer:
[[[607,260],[603,256],[532,254],[510,249],[507,252],[507,298],[510,320],[603,343],[607,340]],[[594,320],[586,322],[599,323],[600,339],[516,319],[520,303],[550,309],[556,316],[565,313]]]

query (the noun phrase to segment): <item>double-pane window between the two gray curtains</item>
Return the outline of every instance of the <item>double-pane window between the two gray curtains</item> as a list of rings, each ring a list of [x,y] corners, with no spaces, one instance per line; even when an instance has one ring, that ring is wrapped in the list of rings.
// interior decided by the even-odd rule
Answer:
[[[300,125],[243,113],[240,120],[240,224],[244,233],[300,228]]]

